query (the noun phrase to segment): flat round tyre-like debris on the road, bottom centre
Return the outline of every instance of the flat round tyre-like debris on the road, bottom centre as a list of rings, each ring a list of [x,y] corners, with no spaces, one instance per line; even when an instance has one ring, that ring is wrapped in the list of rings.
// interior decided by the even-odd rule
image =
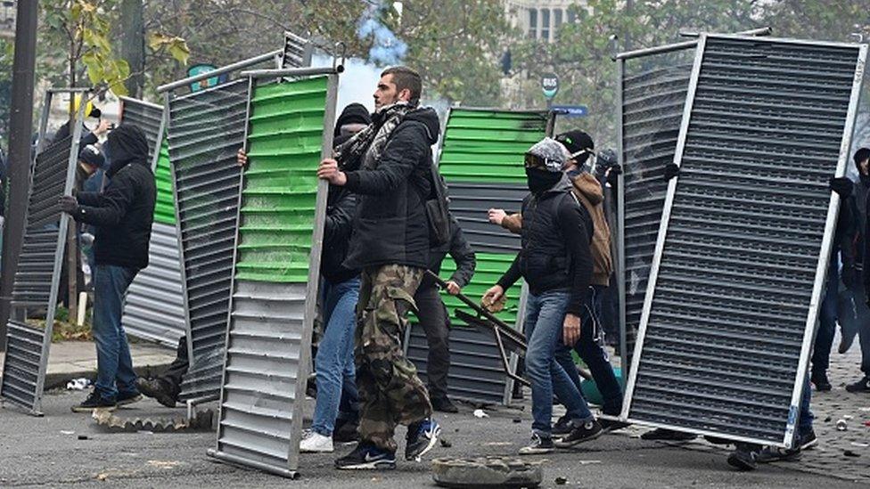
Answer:
[[[508,457],[432,460],[432,479],[445,487],[538,487],[544,480],[541,461]]]

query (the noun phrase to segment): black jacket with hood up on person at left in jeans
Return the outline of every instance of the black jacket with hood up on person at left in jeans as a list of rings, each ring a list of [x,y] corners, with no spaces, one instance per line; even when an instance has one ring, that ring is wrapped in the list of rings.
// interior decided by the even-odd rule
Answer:
[[[101,193],[78,192],[76,221],[96,227],[96,265],[142,269],[148,266],[148,242],[157,190],[141,129],[121,125],[109,134],[111,179]]]

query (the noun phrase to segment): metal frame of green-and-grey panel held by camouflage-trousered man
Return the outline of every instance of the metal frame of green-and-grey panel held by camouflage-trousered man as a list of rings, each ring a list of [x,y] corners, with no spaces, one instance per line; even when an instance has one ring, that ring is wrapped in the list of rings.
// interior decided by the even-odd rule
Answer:
[[[270,70],[273,71],[274,70]],[[341,73],[341,65],[333,66],[332,69],[284,69],[282,71],[282,77],[294,77],[294,76],[308,76],[316,73],[322,73],[327,75],[327,83],[326,83],[326,106],[324,109],[324,132],[323,132],[323,140],[322,140],[322,148],[321,148],[321,159],[328,158],[332,155],[332,126],[334,125],[336,118],[336,102],[338,99],[338,77],[339,73]],[[248,121],[245,126],[245,145],[248,143],[248,131],[250,130],[250,113],[251,113],[251,102],[253,99],[255,79],[257,77],[267,77],[264,73],[249,73],[249,98],[248,98],[248,107],[247,107],[247,117]],[[239,261],[239,242],[241,236],[241,227],[240,224],[242,222],[242,190],[244,189],[244,173],[240,176],[240,184],[239,184],[239,203],[237,206],[237,217],[236,217],[236,234],[235,234],[235,247],[234,247],[234,270]],[[315,223],[312,237],[312,247],[309,256],[309,266],[308,266],[308,281],[306,284],[295,284],[295,283],[283,283],[283,284],[270,284],[266,282],[255,282],[255,281],[237,281],[235,273],[233,275],[233,281],[231,285],[231,290],[233,290],[233,294],[230,299],[230,308],[227,322],[230,324],[229,328],[226,330],[226,349],[225,349],[225,357],[224,357],[224,371],[223,371],[223,379],[221,382],[221,403],[220,403],[220,413],[218,415],[219,425],[217,430],[217,446],[214,449],[209,449],[209,456],[215,457],[218,460],[224,460],[234,464],[241,464],[253,467],[255,469],[260,469],[267,471],[269,473],[279,475],[282,477],[290,477],[290,478],[298,478],[299,473],[297,469],[299,469],[299,444],[301,438],[302,426],[300,420],[302,420],[303,410],[305,406],[305,396],[306,396],[306,379],[308,379],[308,370],[311,365],[311,340],[312,334],[314,330],[314,321],[316,316],[316,302],[318,297],[318,288],[320,281],[320,259],[322,256],[322,247],[324,240],[324,222],[326,217],[326,198],[328,192],[328,184],[324,180],[318,180],[317,182],[317,192],[316,192],[316,208],[315,208]],[[242,306],[242,308],[247,309],[248,304],[245,302],[242,304],[242,301],[238,300],[242,297],[237,297],[240,293],[250,293],[248,288],[253,289],[275,289],[282,290],[280,294],[270,294],[271,297],[304,297],[304,316],[302,319],[302,330],[300,331],[300,351],[299,358],[297,361],[297,371],[296,377],[293,379],[295,381],[295,392],[291,397],[291,414],[287,416],[286,414],[275,412],[272,415],[264,412],[259,412],[259,408],[253,406],[254,409],[249,409],[245,412],[244,406],[240,406],[239,408],[234,408],[232,411],[237,413],[237,416],[244,416],[247,414],[251,418],[253,416],[265,416],[271,417],[274,420],[286,420],[288,417],[290,418],[290,434],[289,434],[289,444],[288,444],[288,452],[286,457],[286,467],[276,466],[275,464],[268,463],[268,456],[271,456],[273,459],[278,458],[274,453],[270,454],[265,450],[262,446],[254,447],[254,446],[239,446],[238,448],[242,449],[244,452],[257,452],[257,454],[262,457],[263,460],[258,460],[257,458],[243,457],[238,454],[234,454],[232,452],[226,452],[222,450],[222,444],[231,444],[231,441],[223,438],[225,435],[223,426],[226,422],[226,408],[228,408],[228,404],[226,403],[227,398],[227,389],[229,388],[226,385],[227,382],[227,366],[231,362],[230,352],[230,344],[231,338],[234,333],[234,312],[236,306]],[[303,292],[304,291],[304,292]],[[300,294],[301,292],[301,294]],[[254,298],[251,296],[250,298]],[[291,299],[293,300],[293,299]],[[242,311],[243,312],[243,311]],[[250,313],[249,313],[250,314]],[[260,316],[263,317],[263,316]],[[295,319],[295,318],[294,318]],[[279,336],[277,339],[283,339],[283,334]],[[277,374],[274,372],[272,374],[266,374],[267,379],[271,379],[271,377]],[[235,389],[234,389],[235,390]],[[286,397],[283,397],[284,400],[288,400]],[[253,424],[256,424],[256,420]],[[252,428],[242,428],[236,427],[240,429],[252,429]],[[267,429],[261,429],[260,434],[268,436],[278,437],[276,432],[269,431]],[[259,452],[258,452],[259,449]]]

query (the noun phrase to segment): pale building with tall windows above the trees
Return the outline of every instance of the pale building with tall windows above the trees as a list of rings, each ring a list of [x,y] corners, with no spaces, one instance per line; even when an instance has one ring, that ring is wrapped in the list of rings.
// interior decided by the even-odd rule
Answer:
[[[570,5],[585,3],[578,0],[505,0],[505,12],[513,27],[520,28],[526,37],[553,42],[562,24],[575,19]]]

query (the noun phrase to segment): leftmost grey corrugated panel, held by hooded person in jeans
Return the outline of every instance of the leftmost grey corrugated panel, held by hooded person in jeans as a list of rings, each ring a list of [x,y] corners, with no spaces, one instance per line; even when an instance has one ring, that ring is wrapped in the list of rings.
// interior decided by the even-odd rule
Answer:
[[[51,100],[51,94],[47,94],[46,108],[50,107]],[[70,216],[61,212],[58,200],[72,192],[75,182],[82,111],[79,110],[74,120],[73,134],[50,144],[37,155],[30,180],[21,255],[12,285],[12,311],[7,323],[0,397],[37,415],[42,409],[61,261],[70,225]],[[41,134],[45,134],[44,129]],[[36,317],[29,317],[31,314]],[[42,326],[38,324],[40,319],[44,319]]]

